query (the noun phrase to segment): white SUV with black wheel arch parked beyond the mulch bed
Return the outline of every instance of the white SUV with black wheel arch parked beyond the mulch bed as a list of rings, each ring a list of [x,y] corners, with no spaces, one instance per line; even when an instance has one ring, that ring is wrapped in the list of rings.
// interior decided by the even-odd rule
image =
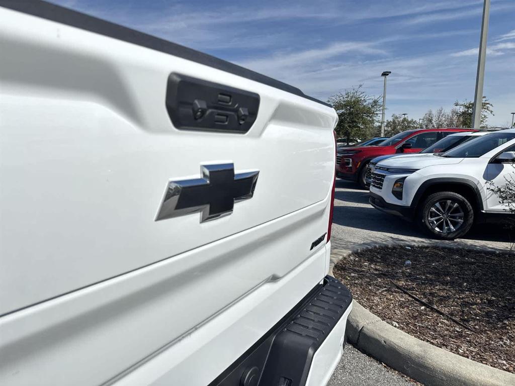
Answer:
[[[515,168],[515,129],[480,136],[442,154],[393,157],[372,171],[370,203],[415,220],[435,237],[454,239],[472,224],[500,216],[506,203],[488,188],[506,183]]]

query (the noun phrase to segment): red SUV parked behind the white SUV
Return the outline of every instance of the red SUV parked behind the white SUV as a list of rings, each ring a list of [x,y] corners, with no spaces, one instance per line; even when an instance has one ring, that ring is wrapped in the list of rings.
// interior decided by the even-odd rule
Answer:
[[[472,129],[416,129],[396,134],[377,146],[339,148],[336,151],[336,177],[356,181],[365,188],[365,173],[371,159],[395,153],[418,153],[444,136]]]

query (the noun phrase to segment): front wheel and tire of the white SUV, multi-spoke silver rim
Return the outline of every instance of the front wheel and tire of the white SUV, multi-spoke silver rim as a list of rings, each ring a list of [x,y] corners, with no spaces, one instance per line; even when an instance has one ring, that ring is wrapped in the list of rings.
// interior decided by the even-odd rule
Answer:
[[[474,209],[465,197],[452,191],[440,191],[424,200],[417,222],[435,238],[454,240],[470,230]]]

